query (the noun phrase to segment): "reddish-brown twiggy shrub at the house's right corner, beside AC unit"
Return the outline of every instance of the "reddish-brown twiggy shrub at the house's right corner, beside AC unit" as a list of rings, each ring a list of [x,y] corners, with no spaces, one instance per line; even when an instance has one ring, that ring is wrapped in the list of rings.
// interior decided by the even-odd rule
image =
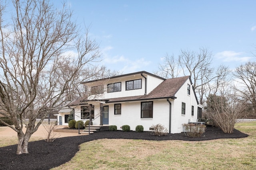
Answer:
[[[183,124],[183,131],[188,137],[201,137],[201,135],[205,132],[206,125],[202,124],[194,124],[188,123]]]

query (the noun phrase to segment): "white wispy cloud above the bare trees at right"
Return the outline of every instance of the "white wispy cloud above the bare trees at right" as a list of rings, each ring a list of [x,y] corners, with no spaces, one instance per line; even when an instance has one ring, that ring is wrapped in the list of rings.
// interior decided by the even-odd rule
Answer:
[[[235,51],[222,51],[220,53],[217,53],[215,56],[218,59],[221,59],[224,62],[247,62],[249,61],[252,57],[247,57],[244,56],[245,53],[243,52],[235,52]]]

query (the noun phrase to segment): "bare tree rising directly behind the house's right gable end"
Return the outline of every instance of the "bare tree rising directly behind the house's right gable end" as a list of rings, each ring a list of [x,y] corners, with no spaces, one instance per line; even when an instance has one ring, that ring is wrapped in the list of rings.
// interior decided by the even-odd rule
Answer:
[[[218,91],[220,83],[227,77],[228,67],[219,66],[217,69],[211,66],[212,52],[208,48],[202,47],[199,51],[180,50],[178,59],[175,60],[174,55],[166,54],[164,63],[159,64],[157,75],[164,78],[174,78],[183,72],[184,75],[190,75],[194,89],[203,104],[204,98],[211,91]],[[225,81],[227,82],[227,81]],[[213,83],[217,83],[214,84]]]

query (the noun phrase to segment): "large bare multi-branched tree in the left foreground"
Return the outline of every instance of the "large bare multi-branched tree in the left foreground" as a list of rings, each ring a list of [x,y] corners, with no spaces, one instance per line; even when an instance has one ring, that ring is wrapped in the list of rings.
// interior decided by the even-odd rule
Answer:
[[[0,114],[14,126],[0,122],[17,132],[17,154],[23,154],[48,112],[65,102],[72,84],[92,76],[83,73],[100,61],[100,53],[96,41],[88,37],[88,28],[78,34],[82,31],[65,3],[58,9],[48,0],[12,4],[12,23],[6,25],[3,18],[9,14],[0,2]],[[72,49],[75,54],[67,55]],[[36,122],[38,115],[43,116]]]

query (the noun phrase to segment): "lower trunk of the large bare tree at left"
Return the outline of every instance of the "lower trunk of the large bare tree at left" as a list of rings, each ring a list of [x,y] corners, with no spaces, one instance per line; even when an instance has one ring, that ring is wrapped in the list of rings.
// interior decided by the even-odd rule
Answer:
[[[24,154],[28,153],[28,141],[31,137],[31,134],[18,133],[18,147],[17,147],[17,154]]]

